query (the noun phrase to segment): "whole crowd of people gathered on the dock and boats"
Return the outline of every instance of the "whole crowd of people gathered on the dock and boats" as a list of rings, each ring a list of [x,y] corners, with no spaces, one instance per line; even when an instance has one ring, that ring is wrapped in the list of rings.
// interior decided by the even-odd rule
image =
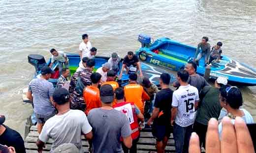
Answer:
[[[145,123],[152,127],[158,153],[165,153],[171,133],[176,153],[188,153],[189,150],[192,153],[198,148],[200,152],[201,147],[207,148],[206,133],[212,126],[208,126],[213,122],[212,118],[215,118],[214,122],[220,121],[218,139],[225,136],[221,134],[226,132],[225,116],[230,118],[230,124],[234,124],[238,117],[246,124],[254,123],[251,114],[241,108],[243,98],[239,88],[227,85],[225,77],[218,77],[214,86],[210,86],[204,77],[196,74],[196,61],[204,55],[202,52],[195,62],[189,61],[178,71],[177,81],[173,83],[177,88],[175,91],[170,89],[171,77],[167,73],[160,75],[159,90],[143,77],[138,57],[132,51],[124,58],[121,68],[120,56],[114,52],[95,72],[97,49],[92,47],[87,34],[82,35],[82,40],[79,46],[81,61],[70,83],[67,81],[70,71],[65,53],[52,49],[52,63],[43,67],[41,77],[32,79],[29,84],[27,97],[33,102],[39,153],[49,139],[53,140],[51,153],[62,150],[83,153],[81,135],[88,140],[91,153],[136,153]],[[208,38],[203,37],[202,41],[207,43]],[[209,50],[209,45],[206,46],[198,44],[202,51]],[[219,42],[212,50],[221,53],[221,46]],[[211,57],[218,60],[220,54],[211,54]],[[60,70],[56,88],[47,81],[55,73],[51,69],[54,62],[58,62]],[[208,58],[206,62],[209,62]],[[129,82],[122,87],[118,79],[122,78],[125,69]],[[138,77],[142,78],[140,83]],[[6,138],[8,133],[13,137]],[[1,120],[0,144],[14,147],[17,153],[26,152],[21,136],[4,126]],[[196,149],[192,150],[192,147]]]

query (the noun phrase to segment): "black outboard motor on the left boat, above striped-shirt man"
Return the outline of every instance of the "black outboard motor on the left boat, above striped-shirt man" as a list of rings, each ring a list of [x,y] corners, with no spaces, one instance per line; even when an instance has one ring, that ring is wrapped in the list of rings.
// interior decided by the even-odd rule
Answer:
[[[37,75],[44,66],[47,66],[43,55],[30,54],[28,55],[28,62],[34,66],[35,75]]]

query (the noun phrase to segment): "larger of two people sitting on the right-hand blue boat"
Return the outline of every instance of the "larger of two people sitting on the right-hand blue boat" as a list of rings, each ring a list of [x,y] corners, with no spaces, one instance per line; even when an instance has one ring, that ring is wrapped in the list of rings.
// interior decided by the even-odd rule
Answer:
[[[197,66],[199,66],[199,60],[204,57],[204,64],[207,64],[209,61],[209,55],[211,51],[211,45],[208,42],[208,37],[202,37],[201,43],[197,45],[197,49],[194,54],[194,61],[196,62]],[[201,49],[201,51],[200,51]]]

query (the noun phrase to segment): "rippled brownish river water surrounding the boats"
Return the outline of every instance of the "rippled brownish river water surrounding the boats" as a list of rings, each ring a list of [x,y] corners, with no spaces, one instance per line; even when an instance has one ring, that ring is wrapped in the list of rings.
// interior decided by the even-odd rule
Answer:
[[[31,53],[78,52],[88,33],[98,54],[125,55],[140,47],[139,33],[195,46],[202,36],[224,54],[256,67],[256,0],[0,0],[0,114],[24,134],[32,106],[22,89],[34,68]],[[245,106],[256,114],[256,87],[242,87]]]

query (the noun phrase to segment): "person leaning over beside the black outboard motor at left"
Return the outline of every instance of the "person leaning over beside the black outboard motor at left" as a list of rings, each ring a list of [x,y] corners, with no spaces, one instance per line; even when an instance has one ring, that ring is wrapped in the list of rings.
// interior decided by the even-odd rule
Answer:
[[[51,49],[50,52],[52,54],[50,67],[53,66],[54,62],[58,62],[58,64],[59,64],[59,76],[61,76],[62,75],[63,64],[64,64],[65,68],[69,68],[68,58],[67,58],[66,54],[63,51],[56,51],[55,49]]]

